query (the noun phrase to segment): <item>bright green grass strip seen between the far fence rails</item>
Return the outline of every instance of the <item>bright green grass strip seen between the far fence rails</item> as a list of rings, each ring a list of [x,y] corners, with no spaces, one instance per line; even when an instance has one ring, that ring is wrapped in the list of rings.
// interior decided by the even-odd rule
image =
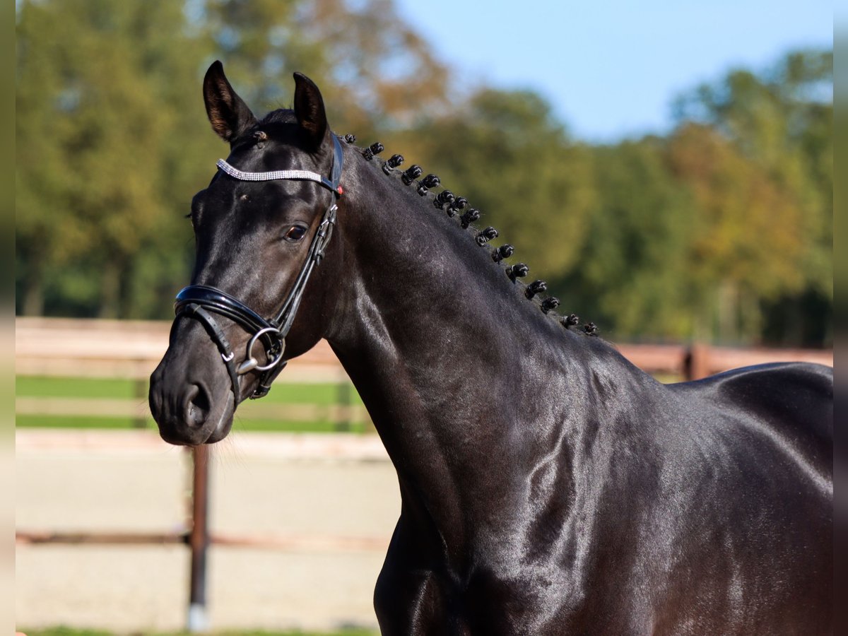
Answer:
[[[126,379],[101,379],[81,377],[24,377],[16,378],[15,393],[26,398],[81,398],[81,399],[136,399],[139,410],[147,401],[147,383]],[[280,382],[271,388],[263,399],[264,404],[315,404],[332,406],[341,396],[338,384],[286,384]],[[351,404],[360,405],[362,400],[354,388],[349,388]],[[237,411],[233,429],[236,431],[287,431],[287,432],[333,432],[337,425],[323,418],[316,421],[269,420],[256,417],[251,412],[251,402],[245,402]],[[131,417],[101,416],[42,416],[20,415],[16,417],[18,427],[51,428],[117,428],[137,426]],[[156,428],[152,419],[144,421],[146,428]],[[364,432],[369,426],[358,422],[344,429]]]

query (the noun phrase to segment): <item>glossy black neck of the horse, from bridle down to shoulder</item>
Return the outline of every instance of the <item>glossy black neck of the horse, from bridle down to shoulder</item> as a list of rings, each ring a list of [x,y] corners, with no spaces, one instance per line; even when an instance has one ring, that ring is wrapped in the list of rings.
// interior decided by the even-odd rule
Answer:
[[[343,283],[326,338],[402,491],[452,501],[468,518],[486,483],[510,496],[492,475],[508,479],[511,467],[568,444],[579,426],[560,414],[591,415],[570,406],[586,398],[577,378],[599,345],[523,298],[493,247],[478,247],[432,198],[351,163],[355,185],[346,186],[338,225]],[[536,425],[555,420],[562,425]]]

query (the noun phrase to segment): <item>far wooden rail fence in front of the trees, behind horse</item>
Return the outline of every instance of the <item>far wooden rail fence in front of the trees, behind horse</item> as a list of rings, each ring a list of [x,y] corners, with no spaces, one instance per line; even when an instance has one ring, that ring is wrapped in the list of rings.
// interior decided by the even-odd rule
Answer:
[[[138,427],[147,425],[148,377],[168,347],[170,323],[18,318],[15,328],[18,376],[120,377],[135,382],[135,394],[128,399],[21,396],[15,403],[17,415],[113,416],[131,419]],[[834,363],[832,351],[808,349],[728,349],[681,344],[621,344],[617,348],[644,371],[687,380],[763,362]],[[240,414],[259,420],[331,421],[337,430],[370,424],[365,408],[354,404],[349,377],[324,340],[292,360],[276,382],[334,384],[336,404],[275,404],[259,400],[243,404]]]

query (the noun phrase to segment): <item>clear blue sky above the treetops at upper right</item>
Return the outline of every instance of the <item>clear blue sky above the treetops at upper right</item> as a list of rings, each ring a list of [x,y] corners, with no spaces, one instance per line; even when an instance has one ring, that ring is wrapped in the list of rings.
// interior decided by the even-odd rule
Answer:
[[[731,68],[833,46],[833,3],[820,0],[398,4],[456,86],[533,89],[594,142],[666,131],[676,95]]]

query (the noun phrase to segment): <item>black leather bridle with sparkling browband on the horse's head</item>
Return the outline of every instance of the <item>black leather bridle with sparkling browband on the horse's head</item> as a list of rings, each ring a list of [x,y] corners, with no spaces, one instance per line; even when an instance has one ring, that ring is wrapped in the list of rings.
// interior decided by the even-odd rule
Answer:
[[[218,161],[218,168],[222,172],[241,181],[308,180],[315,181],[321,187],[326,187],[326,189],[333,193],[332,202],[324,212],[315,236],[312,237],[309,254],[306,256],[304,265],[301,266],[291,291],[289,291],[282,303],[282,308],[274,318],[265,319],[237,298],[233,298],[230,294],[208,285],[189,285],[188,287],[184,287],[176,295],[176,302],[174,303],[176,319],[174,323],[176,324],[177,319],[182,316],[187,316],[197,320],[204,326],[206,332],[209,333],[209,338],[212,338],[212,341],[220,351],[221,358],[224,360],[226,371],[229,373],[230,381],[232,382],[232,393],[235,397],[236,404],[238,404],[238,397],[241,393],[238,380],[239,376],[243,376],[248,371],[261,371],[262,375],[259,376],[259,386],[250,396],[251,399],[258,399],[268,394],[268,391],[271,389],[271,382],[274,382],[280,371],[287,364],[287,360],[282,359],[282,355],[286,350],[286,336],[292,328],[294,315],[298,311],[301,298],[303,298],[306,282],[309,281],[310,274],[315,269],[315,265],[321,263],[321,259],[324,258],[324,250],[327,243],[330,242],[332,226],[336,222],[336,201],[343,192],[342,187],[339,185],[343,165],[342,146],[338,142],[338,137],[335,135],[332,135],[332,142],[333,162],[329,179],[306,170],[243,172],[242,170],[233,168],[223,159]],[[227,341],[223,330],[215,322],[212,314],[223,315],[237,322],[248,333],[253,334],[248,340],[245,359],[239,365],[236,365],[234,362],[235,354],[232,352],[230,343]],[[265,365],[259,365],[259,361],[254,358],[253,354],[254,345],[259,340],[262,341],[265,347],[265,357],[268,360]]]

